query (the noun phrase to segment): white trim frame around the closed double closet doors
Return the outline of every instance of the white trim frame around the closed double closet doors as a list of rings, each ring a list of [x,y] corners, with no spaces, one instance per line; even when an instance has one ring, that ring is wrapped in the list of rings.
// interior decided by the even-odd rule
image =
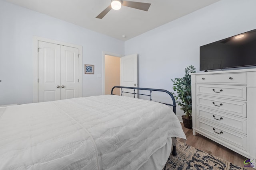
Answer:
[[[78,49],[78,97],[82,97],[82,46],[33,36],[33,103],[38,102],[38,41],[65,45]]]

